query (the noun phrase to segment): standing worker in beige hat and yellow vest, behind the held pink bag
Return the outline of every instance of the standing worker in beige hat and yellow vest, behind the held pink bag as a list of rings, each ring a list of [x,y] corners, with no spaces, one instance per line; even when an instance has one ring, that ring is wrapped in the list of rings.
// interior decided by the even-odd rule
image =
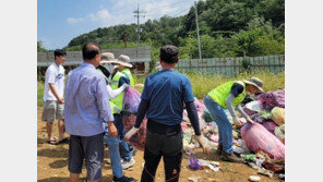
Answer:
[[[132,64],[130,63],[130,58],[124,54],[120,54],[117,60],[113,60],[113,63],[118,64],[118,71],[112,76],[111,81],[111,88],[118,89],[120,86],[122,86],[124,83],[130,84],[131,86],[134,85],[133,77],[131,75],[130,69],[132,68]],[[123,93],[121,93],[116,98],[111,99],[111,101],[118,107],[122,108],[123,102]],[[125,134],[125,129],[122,122],[122,111],[121,113],[115,113],[115,123],[118,129],[118,138],[119,138],[119,149],[120,155],[122,158],[122,168],[127,169],[130,168],[135,163],[132,153],[130,151],[130,145],[128,142],[124,142],[123,137]]]

